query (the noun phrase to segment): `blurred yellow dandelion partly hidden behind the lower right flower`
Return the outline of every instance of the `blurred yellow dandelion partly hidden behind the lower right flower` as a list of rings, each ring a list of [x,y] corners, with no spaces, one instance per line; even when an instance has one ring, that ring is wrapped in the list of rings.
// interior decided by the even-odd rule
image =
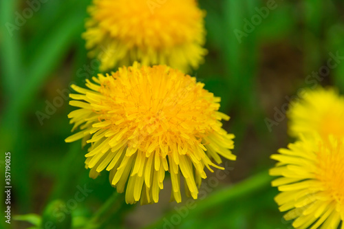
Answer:
[[[344,98],[334,89],[306,89],[288,111],[290,135],[344,136]]]

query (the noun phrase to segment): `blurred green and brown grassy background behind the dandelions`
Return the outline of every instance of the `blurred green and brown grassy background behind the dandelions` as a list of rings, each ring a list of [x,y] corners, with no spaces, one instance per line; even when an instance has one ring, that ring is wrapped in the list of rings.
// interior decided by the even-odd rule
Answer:
[[[199,201],[183,197],[181,204],[169,203],[167,178],[158,204],[129,206],[122,194],[105,214],[99,209],[114,193],[107,175],[90,179],[86,149],[64,142],[73,109],[69,85],[82,86],[98,72],[80,37],[90,3],[0,1],[2,174],[5,152],[12,160],[12,221],[8,227],[2,217],[0,225],[28,228],[31,223],[14,215],[41,215],[50,201],[62,199],[74,226],[95,220],[100,228],[291,228],[273,200],[278,192],[270,187],[269,156],[290,141],[284,111],[299,89],[344,89],[344,2],[200,0],[209,53],[191,75],[222,97],[221,110],[231,117],[224,128],[236,135],[237,162],[226,164],[224,178],[208,174],[215,178],[213,184],[204,181],[211,188],[202,189],[206,198]],[[335,67],[328,65],[331,58]],[[1,187],[3,182],[1,177]],[[85,187],[89,193],[82,201],[70,201]],[[2,192],[1,210],[3,198]]]

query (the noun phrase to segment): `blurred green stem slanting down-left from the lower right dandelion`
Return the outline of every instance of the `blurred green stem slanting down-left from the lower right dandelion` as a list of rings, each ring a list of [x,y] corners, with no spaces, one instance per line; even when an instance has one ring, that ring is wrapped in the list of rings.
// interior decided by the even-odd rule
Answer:
[[[201,212],[214,208],[219,204],[228,203],[228,201],[233,201],[239,197],[243,197],[245,195],[249,195],[250,193],[254,193],[257,190],[261,190],[262,188],[266,188],[270,185],[271,180],[272,177],[268,175],[268,171],[264,171],[263,173],[259,173],[253,177],[250,177],[243,182],[235,184],[234,186],[217,190],[209,197],[206,197],[206,199],[196,201],[195,209],[189,209],[189,215],[187,217],[199,215]],[[159,219],[159,221],[153,223],[151,226],[148,226],[145,229],[162,228],[164,223],[166,223],[166,219],[171,219],[171,217],[175,214],[178,213],[175,212],[175,210],[172,210],[162,217],[162,219]]]

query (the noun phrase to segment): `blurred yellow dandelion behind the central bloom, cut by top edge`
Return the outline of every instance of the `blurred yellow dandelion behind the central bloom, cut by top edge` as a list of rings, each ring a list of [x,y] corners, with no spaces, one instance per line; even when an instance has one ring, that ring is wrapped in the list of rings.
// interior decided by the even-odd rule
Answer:
[[[89,56],[100,70],[142,65],[169,65],[182,72],[196,69],[206,50],[205,12],[195,0],[94,0],[86,23]]]

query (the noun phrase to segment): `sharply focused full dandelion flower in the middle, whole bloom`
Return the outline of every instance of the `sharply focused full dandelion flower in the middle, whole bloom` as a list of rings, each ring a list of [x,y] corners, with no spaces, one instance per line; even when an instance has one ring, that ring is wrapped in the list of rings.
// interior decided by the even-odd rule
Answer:
[[[127,203],[158,202],[165,171],[171,173],[171,200],[181,201],[180,175],[186,194],[197,199],[204,167],[223,169],[212,162],[222,163],[219,155],[235,160],[234,135],[220,122],[229,119],[218,111],[220,98],[194,77],[135,63],[93,80],[87,80],[89,89],[72,86],[80,94],[71,94],[69,104],[80,109],[68,117],[81,131],[65,141],[91,143],[85,155],[90,177],[106,168],[118,193],[127,183]]]

